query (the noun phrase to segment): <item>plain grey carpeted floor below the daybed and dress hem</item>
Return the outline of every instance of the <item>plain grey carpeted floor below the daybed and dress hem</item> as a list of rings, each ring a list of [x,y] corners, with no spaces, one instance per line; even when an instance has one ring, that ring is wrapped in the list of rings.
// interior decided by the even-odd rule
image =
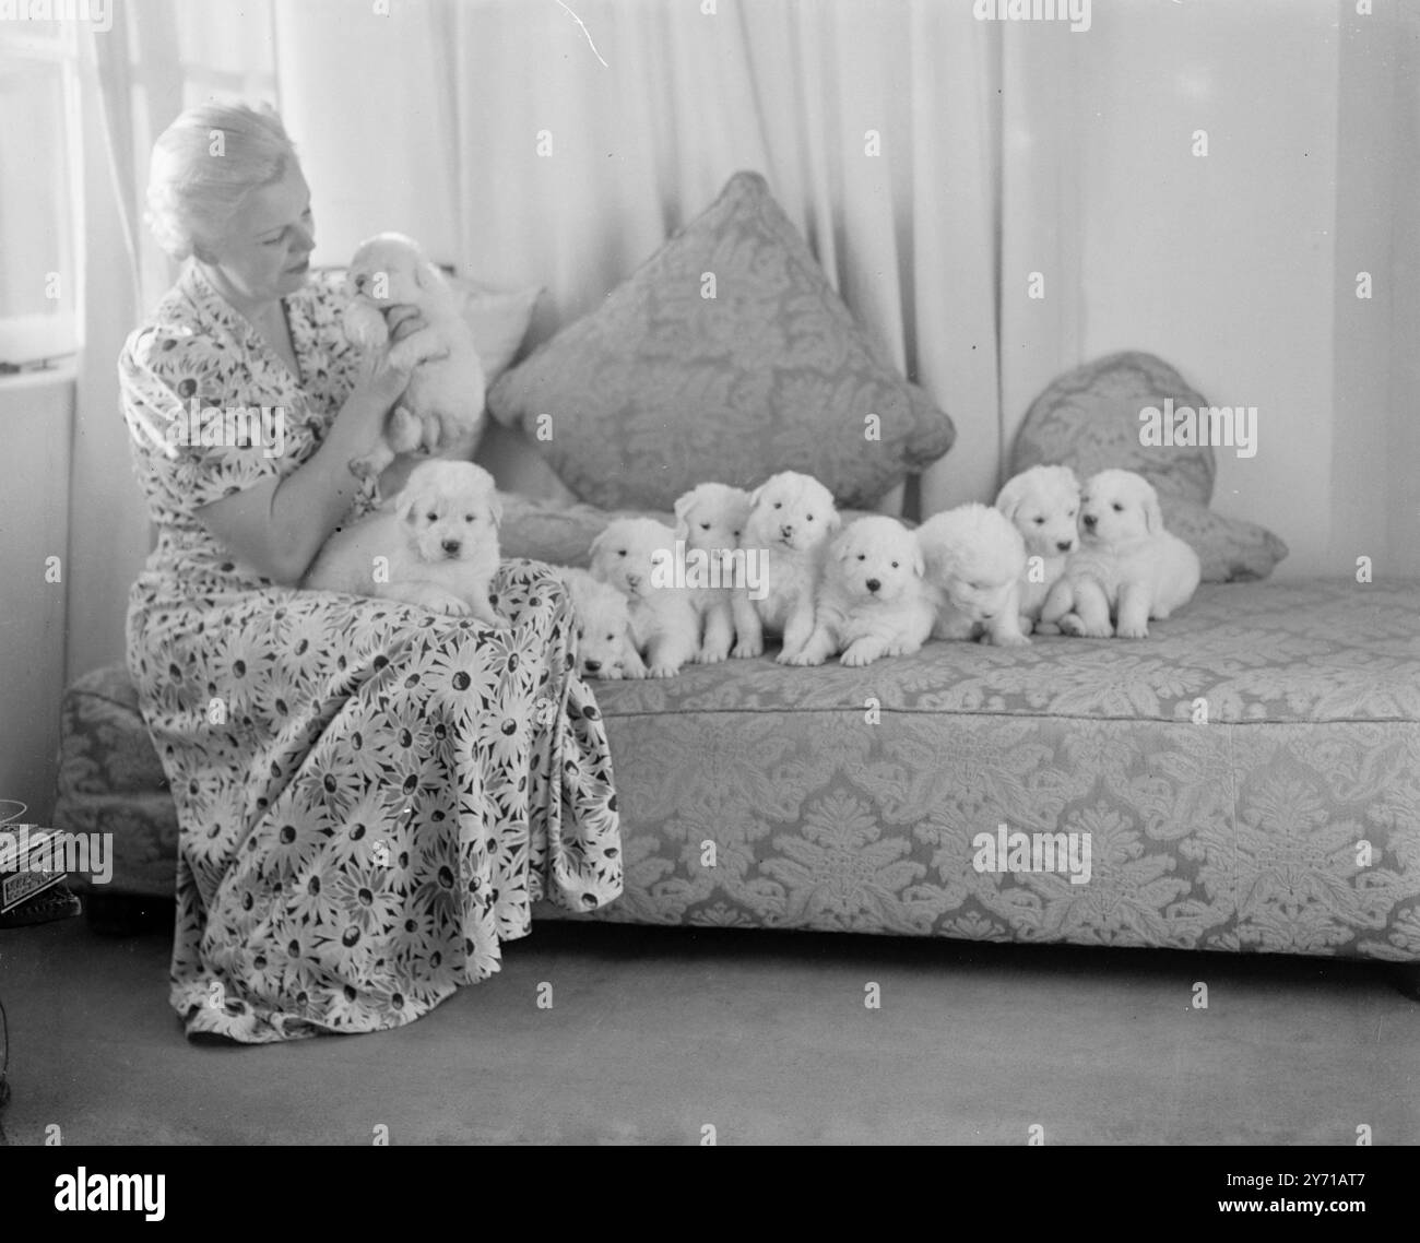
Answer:
[[[0,932],[11,1144],[1420,1142],[1369,963],[538,923],[399,1031],[244,1048],[187,1043],[166,956]]]

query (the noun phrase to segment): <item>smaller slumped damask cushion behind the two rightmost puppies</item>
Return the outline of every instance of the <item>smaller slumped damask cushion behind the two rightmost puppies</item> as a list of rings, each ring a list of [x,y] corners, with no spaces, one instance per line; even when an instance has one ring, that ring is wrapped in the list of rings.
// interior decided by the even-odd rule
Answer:
[[[1216,463],[1211,445],[1154,445],[1140,436],[1140,412],[1200,409],[1207,398],[1152,354],[1126,352],[1088,362],[1054,381],[1025,413],[1015,433],[1008,474],[1032,466],[1069,466],[1083,482],[1120,467],[1147,479],[1159,493],[1164,526],[1186,540],[1203,563],[1204,582],[1267,578],[1287,557],[1287,544],[1265,527],[1208,509]]]

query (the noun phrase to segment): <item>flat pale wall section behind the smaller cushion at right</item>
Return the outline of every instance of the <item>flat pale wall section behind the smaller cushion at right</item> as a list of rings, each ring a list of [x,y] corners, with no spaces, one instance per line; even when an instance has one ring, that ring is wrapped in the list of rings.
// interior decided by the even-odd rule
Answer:
[[[1082,357],[1147,349],[1257,406],[1213,507],[1281,534],[1282,575],[1335,572],[1336,6],[1100,4],[1078,41]]]

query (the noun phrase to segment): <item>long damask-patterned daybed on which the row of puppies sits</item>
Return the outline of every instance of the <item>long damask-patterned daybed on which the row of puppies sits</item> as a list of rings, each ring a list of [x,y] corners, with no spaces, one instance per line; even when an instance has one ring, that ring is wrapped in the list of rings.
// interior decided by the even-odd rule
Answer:
[[[65,699],[55,821],[119,834],[115,889],[172,892],[125,680]],[[569,918],[1420,962],[1420,582],[1204,585],[1142,642],[731,661],[596,696],[626,888]],[[1089,882],[977,872],[1003,821],[1089,832]]]

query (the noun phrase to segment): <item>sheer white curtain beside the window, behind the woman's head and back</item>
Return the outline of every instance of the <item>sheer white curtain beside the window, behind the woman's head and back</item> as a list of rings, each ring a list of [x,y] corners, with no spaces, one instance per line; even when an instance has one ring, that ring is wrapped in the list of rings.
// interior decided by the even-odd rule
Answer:
[[[85,280],[70,466],[67,675],[124,655],[128,590],[149,548],[118,401],[124,340],[175,271],[143,226],[153,139],[206,98],[275,102],[266,4],[132,0],[82,53]]]

